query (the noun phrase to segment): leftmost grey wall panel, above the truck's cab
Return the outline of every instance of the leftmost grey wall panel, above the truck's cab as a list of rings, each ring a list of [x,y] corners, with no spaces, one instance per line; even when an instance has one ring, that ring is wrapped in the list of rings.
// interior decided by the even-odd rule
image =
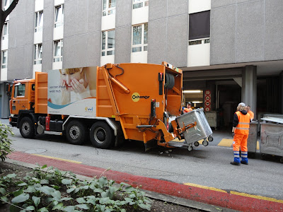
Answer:
[[[9,16],[8,80],[33,76],[34,7],[33,0],[19,1]]]

